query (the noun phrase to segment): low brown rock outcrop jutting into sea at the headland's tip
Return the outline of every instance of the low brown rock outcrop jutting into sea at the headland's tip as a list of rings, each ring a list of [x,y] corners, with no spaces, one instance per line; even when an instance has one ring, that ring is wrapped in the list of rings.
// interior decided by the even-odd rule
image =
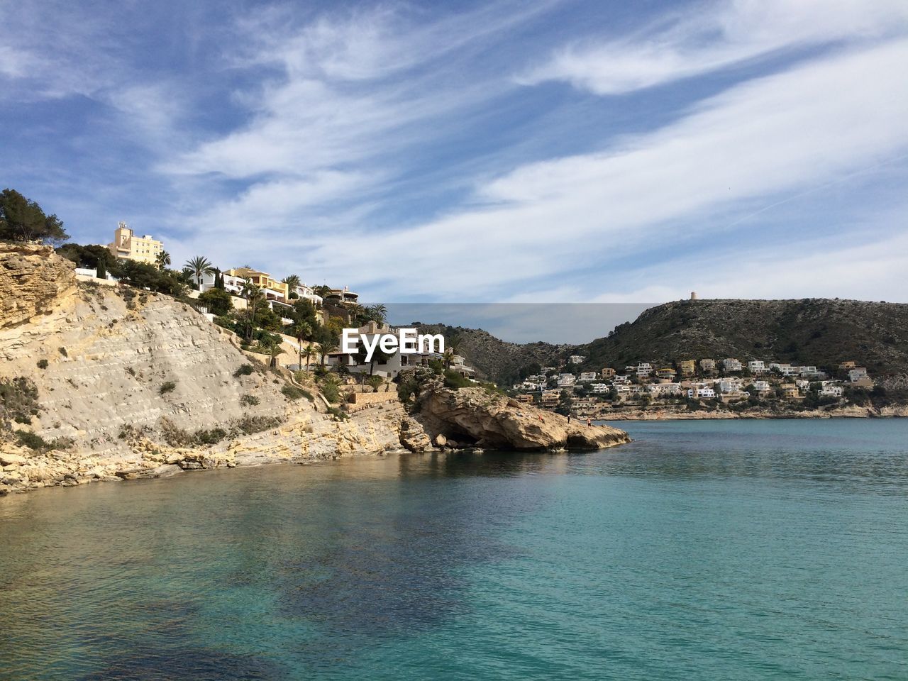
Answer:
[[[437,441],[500,449],[601,449],[629,442],[624,430],[587,426],[481,388],[430,387],[420,397],[420,420]],[[439,435],[443,439],[438,439]]]

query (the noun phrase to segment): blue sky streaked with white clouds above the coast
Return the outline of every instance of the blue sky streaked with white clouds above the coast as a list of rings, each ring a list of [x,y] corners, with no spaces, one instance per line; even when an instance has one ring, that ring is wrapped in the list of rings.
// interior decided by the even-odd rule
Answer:
[[[0,184],[370,301],[905,301],[908,4],[0,2]]]

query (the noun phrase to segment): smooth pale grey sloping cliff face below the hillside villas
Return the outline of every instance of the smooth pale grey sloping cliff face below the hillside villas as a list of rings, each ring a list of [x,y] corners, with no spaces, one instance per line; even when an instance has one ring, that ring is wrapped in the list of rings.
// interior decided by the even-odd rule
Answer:
[[[127,426],[161,439],[168,421],[194,431],[247,416],[286,418],[273,376],[234,378],[249,360],[218,327],[166,296],[127,295],[82,283],[53,311],[0,329],[0,375],[37,387],[35,433],[113,453],[128,449],[119,437]],[[259,404],[243,404],[244,395]]]

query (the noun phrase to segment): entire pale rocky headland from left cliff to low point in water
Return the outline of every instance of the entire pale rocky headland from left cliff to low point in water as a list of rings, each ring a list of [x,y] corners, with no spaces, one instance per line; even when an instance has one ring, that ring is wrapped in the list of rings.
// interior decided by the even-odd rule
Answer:
[[[0,494],[426,451],[447,433],[489,448],[627,441],[471,390],[439,388],[425,417],[384,400],[339,418],[321,395],[289,397],[290,371],[255,360],[192,306],[76,281],[49,247],[0,244],[0,294]]]

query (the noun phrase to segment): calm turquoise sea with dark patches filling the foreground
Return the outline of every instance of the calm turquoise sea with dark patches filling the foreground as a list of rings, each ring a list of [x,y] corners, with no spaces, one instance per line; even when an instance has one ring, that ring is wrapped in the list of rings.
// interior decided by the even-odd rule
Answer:
[[[0,498],[3,679],[908,679],[908,420]]]

